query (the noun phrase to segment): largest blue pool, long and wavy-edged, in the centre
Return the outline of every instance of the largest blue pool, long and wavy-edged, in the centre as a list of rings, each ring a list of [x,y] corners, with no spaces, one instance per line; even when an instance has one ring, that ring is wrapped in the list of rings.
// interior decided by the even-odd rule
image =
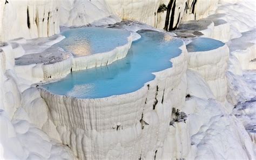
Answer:
[[[180,39],[165,40],[164,33],[141,30],[127,56],[110,65],[71,72],[66,78],[43,85],[53,94],[82,99],[105,98],[137,91],[154,79],[153,72],[172,67],[171,58],[180,55]],[[121,40],[122,41],[122,40]]]

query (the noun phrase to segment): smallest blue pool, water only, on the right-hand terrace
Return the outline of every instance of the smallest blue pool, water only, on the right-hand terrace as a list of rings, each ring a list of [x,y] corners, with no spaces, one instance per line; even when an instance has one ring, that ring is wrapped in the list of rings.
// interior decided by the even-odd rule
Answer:
[[[188,52],[202,52],[215,50],[224,45],[225,43],[219,40],[200,37],[194,38],[191,43],[186,45],[186,48]]]

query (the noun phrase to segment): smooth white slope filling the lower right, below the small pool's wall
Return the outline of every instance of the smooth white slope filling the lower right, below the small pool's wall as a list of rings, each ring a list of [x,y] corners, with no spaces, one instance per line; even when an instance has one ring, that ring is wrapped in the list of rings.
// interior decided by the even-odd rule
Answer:
[[[187,71],[188,115],[191,152],[188,159],[254,159],[254,144],[241,122],[212,99],[210,88],[194,71]],[[198,90],[198,88],[200,88]]]

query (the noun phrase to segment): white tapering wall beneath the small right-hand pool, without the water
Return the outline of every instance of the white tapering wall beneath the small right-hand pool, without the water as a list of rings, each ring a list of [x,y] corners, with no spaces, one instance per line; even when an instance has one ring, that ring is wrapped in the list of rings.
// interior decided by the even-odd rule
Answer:
[[[215,98],[224,102],[227,94],[227,71],[229,50],[227,45],[210,51],[189,52],[187,67],[200,73]]]

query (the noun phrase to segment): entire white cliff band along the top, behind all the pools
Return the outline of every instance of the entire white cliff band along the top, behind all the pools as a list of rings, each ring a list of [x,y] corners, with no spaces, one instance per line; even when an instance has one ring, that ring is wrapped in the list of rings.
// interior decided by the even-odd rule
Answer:
[[[139,20],[159,29],[173,30],[187,20],[207,17],[218,0],[9,0],[0,2],[0,39],[32,39],[59,33],[59,25],[107,25],[122,19]],[[158,12],[161,4],[167,10]],[[167,18],[166,18],[167,17]],[[9,32],[5,32],[5,31]]]

